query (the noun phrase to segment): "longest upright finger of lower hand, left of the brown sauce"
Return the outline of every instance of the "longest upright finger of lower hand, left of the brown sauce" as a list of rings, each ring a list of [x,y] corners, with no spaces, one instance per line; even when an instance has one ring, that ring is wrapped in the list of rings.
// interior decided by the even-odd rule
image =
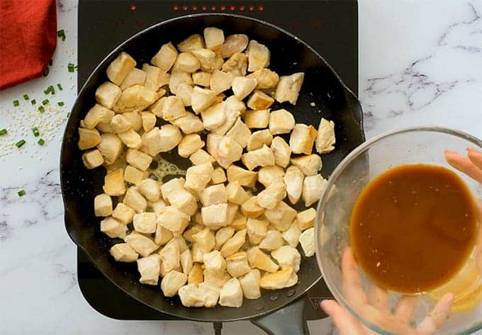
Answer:
[[[352,306],[366,305],[366,296],[361,288],[361,279],[351,248],[344,249],[342,255],[343,290]]]

